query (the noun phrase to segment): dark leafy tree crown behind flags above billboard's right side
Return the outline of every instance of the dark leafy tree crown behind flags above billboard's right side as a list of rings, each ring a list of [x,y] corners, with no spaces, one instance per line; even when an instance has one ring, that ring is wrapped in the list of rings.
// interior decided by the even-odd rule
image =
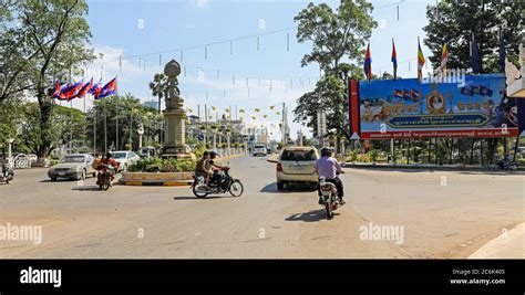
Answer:
[[[441,64],[443,39],[449,42],[449,69],[470,69],[472,34],[478,46],[481,73],[498,73],[500,32],[507,56],[517,64],[521,30],[525,21],[524,1],[439,1],[426,6],[429,24],[424,44],[431,50],[430,61],[434,69]]]

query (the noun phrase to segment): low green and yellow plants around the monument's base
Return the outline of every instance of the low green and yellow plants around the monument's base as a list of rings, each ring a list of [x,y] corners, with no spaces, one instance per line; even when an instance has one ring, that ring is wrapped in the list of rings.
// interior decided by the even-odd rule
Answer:
[[[159,172],[187,172],[194,171],[196,161],[194,160],[177,160],[177,159],[161,159],[158,157],[151,157],[138,160],[135,165],[130,166],[130,172],[137,171],[159,171]]]

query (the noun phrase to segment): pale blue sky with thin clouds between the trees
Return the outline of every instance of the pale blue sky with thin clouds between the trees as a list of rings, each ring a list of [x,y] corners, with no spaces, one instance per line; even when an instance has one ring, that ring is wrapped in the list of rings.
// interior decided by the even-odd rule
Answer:
[[[235,110],[237,107],[246,110],[238,116],[243,116],[248,124],[268,127],[272,137],[279,138],[277,125],[280,115],[276,112],[280,112],[285,103],[290,137],[295,138],[299,129],[310,135],[307,127],[292,123],[291,112],[296,99],[312,91],[320,75],[317,64],[301,67],[301,57],[310,52],[311,43],[299,44],[296,40],[294,17],[310,1],[86,2],[90,8],[86,19],[93,34],[91,45],[99,57],[85,69],[86,80],[94,77],[99,81],[102,76],[105,83],[117,76],[120,94],[132,93],[142,102],[156,101],[148,84],[155,73],[163,72],[164,65],[175,59],[183,67],[178,88],[185,107],[191,108],[193,115],[197,115],[199,108],[204,118],[204,105],[208,108],[214,106],[219,116],[224,108]],[[333,9],[339,3],[313,2],[326,2]],[[398,75],[416,75],[418,36],[425,36],[422,28],[428,24],[425,7],[429,3],[435,4],[435,0],[372,1],[375,8],[372,17],[378,22],[370,40],[374,74],[384,71],[392,73],[390,57],[393,38]],[[258,34],[262,35],[257,39]],[[230,40],[235,41],[230,43]],[[429,50],[423,44],[422,49],[428,56]],[[89,109],[91,105],[90,97],[85,106]],[[75,99],[73,107],[83,109],[84,102]],[[256,113],[255,108],[260,112]],[[212,110],[212,115],[215,117],[215,112]],[[264,115],[267,115],[266,119]]]

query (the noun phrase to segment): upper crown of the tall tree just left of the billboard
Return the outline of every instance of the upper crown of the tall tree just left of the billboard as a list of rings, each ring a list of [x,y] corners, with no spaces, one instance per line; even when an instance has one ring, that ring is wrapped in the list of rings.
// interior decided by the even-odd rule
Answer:
[[[309,3],[294,18],[299,22],[299,43],[312,42],[312,51],[302,57],[301,65],[316,62],[326,73],[337,74],[341,59],[361,61],[364,40],[377,27],[370,15],[372,4],[366,0],[343,0],[333,11],[328,4]]]

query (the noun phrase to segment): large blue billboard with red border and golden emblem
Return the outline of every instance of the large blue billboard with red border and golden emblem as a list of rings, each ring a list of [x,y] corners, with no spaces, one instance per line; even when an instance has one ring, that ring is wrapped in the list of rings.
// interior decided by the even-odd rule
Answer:
[[[449,83],[416,78],[350,82],[350,135],[360,138],[516,136],[517,104],[504,74]]]

